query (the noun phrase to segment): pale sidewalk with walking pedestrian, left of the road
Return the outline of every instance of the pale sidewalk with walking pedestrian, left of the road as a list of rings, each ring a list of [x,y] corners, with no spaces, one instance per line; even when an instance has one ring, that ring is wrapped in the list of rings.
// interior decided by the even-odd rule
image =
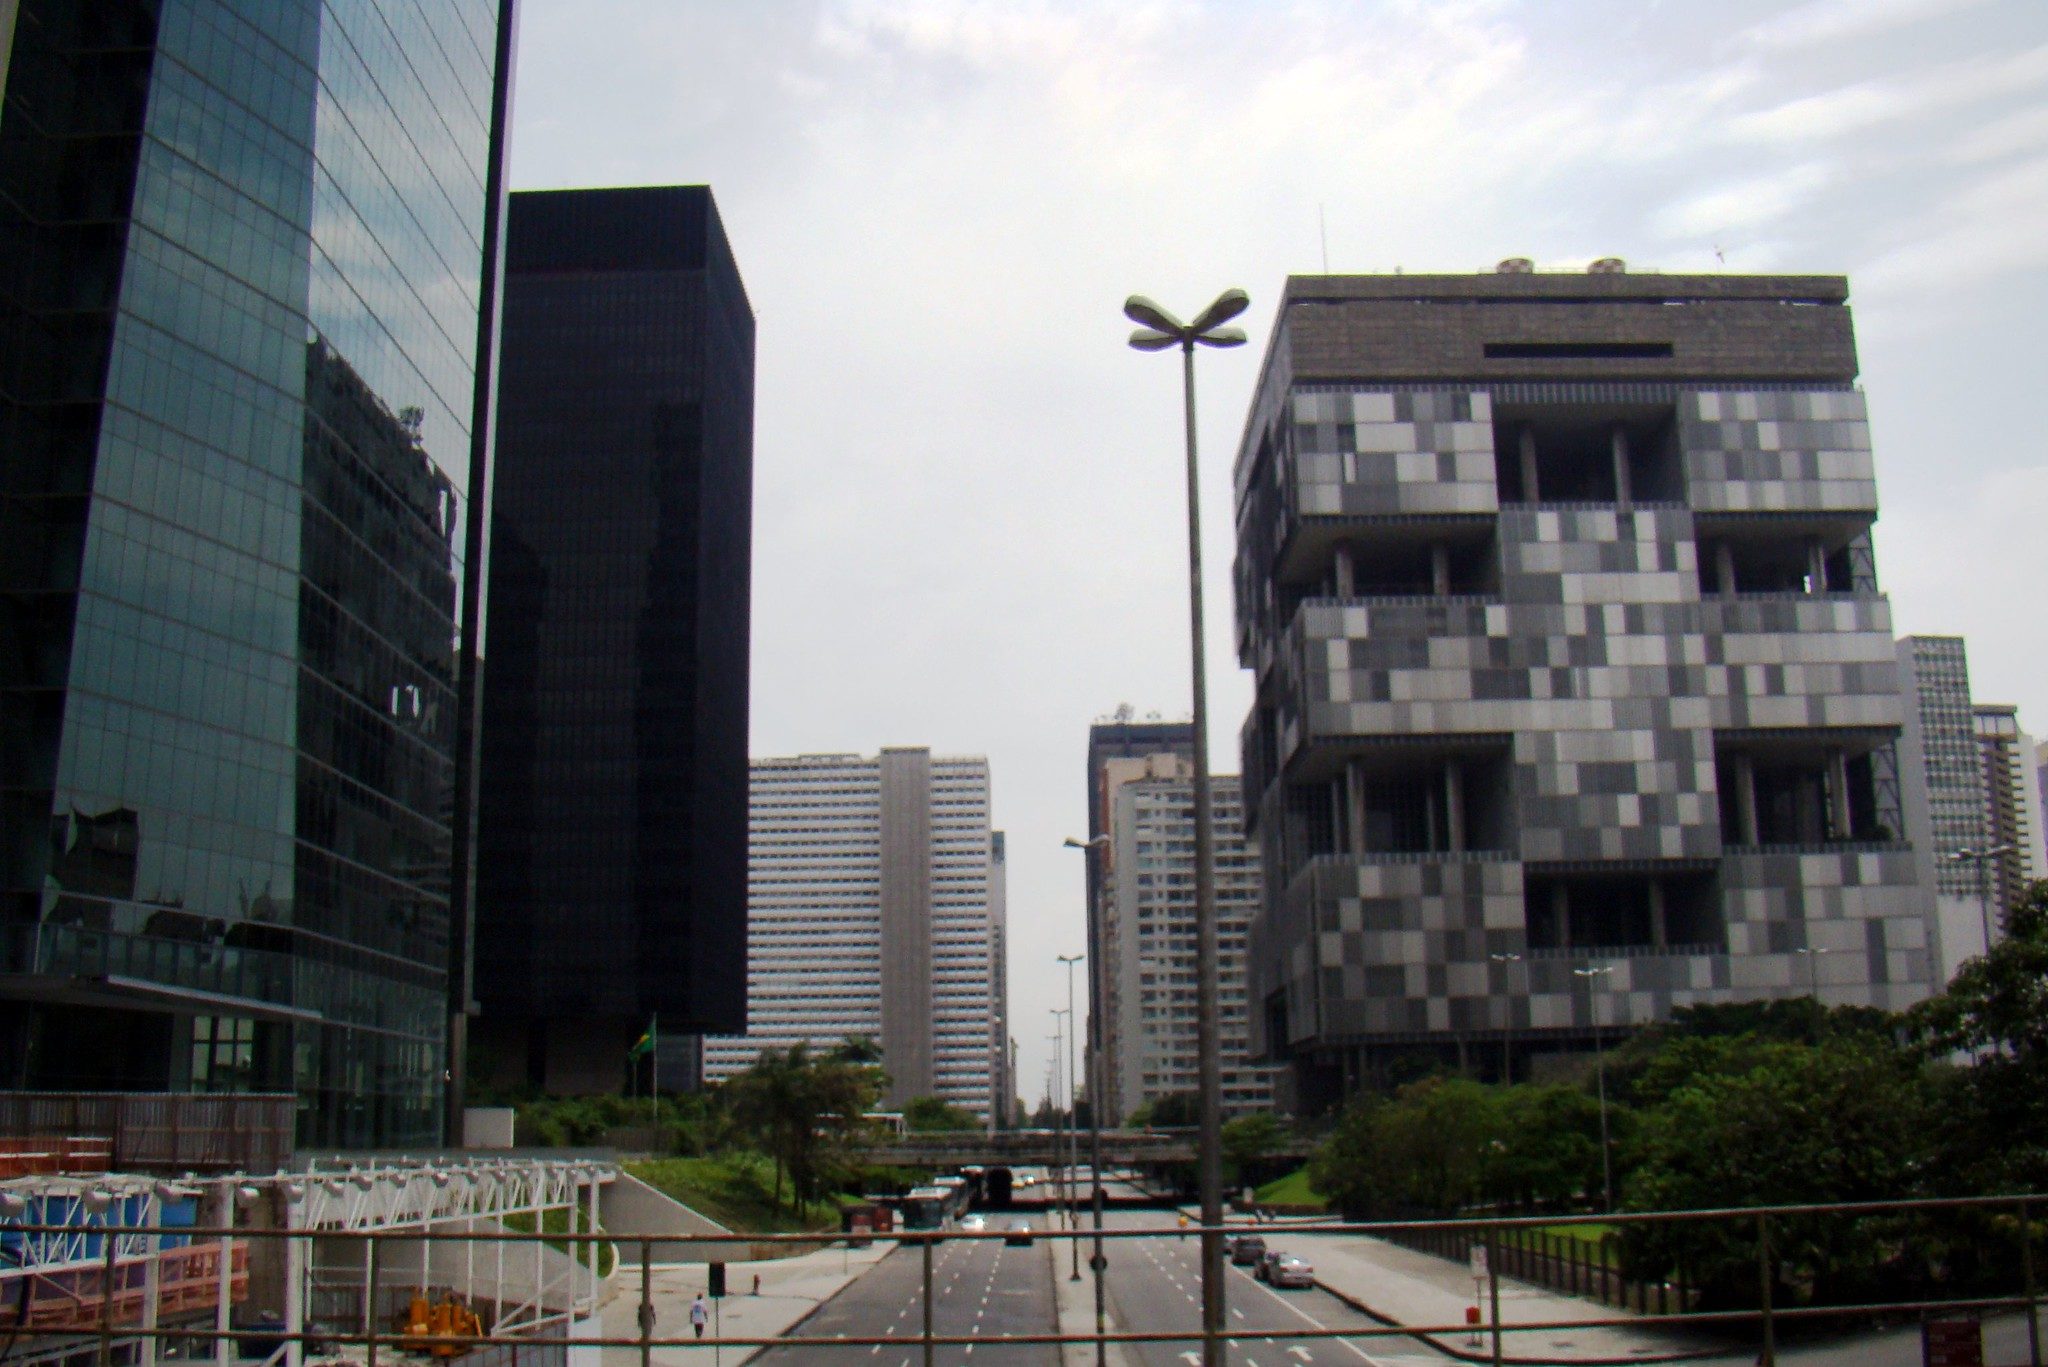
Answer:
[[[795,1258],[764,1262],[727,1262],[727,1295],[711,1301],[717,1312],[717,1332],[733,1338],[770,1338],[838,1295],[850,1281],[889,1256],[893,1242],[877,1240],[870,1248],[821,1248]],[[649,1271],[649,1299],[655,1312],[655,1336],[686,1336],[690,1332],[690,1301],[705,1289],[705,1262],[655,1262]],[[760,1277],[760,1295],[754,1279]],[[621,1267],[610,1279],[610,1299],[604,1303],[604,1336],[639,1334],[639,1267]],[[711,1367],[743,1363],[760,1349],[715,1349],[690,1344],[655,1349],[657,1367]],[[604,1349],[604,1367],[639,1367],[639,1349]]]

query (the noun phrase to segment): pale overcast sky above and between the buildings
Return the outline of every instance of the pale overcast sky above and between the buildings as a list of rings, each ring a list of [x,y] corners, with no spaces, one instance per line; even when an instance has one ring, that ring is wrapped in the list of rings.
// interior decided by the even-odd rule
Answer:
[[[1901,633],[2048,730],[2048,4],[522,0],[516,189],[713,187],[758,318],[754,754],[987,754],[1020,1090],[1081,949],[1090,719],[1188,713],[1200,359],[1219,771],[1229,467],[1290,273],[1849,277]],[[1325,246],[1327,244],[1327,246]]]

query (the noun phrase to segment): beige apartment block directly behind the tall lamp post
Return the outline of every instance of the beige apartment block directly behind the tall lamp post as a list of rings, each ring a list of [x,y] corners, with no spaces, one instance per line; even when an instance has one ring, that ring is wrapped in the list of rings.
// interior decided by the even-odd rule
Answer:
[[[1104,881],[1106,1115],[1200,1086],[1196,1049],[1194,783],[1171,752],[1102,762],[1108,807]],[[1219,1045],[1223,1113],[1272,1107],[1272,1070],[1245,1062],[1245,930],[1260,908],[1260,853],[1245,840],[1235,777],[1210,785],[1217,859]]]

